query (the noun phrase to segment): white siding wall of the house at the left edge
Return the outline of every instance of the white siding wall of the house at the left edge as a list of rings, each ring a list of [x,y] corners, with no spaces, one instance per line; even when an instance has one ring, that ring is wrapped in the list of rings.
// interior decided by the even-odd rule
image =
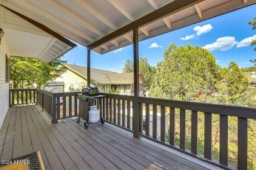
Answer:
[[[0,128],[9,108],[9,83],[5,82],[5,55],[9,56],[4,39],[0,44]]]

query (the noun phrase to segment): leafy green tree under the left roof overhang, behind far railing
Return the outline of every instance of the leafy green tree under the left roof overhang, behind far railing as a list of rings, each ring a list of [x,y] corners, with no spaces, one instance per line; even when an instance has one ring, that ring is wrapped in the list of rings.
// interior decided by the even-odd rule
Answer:
[[[35,58],[10,57],[10,88],[31,88],[36,85],[40,88],[59,76],[58,67],[66,61],[58,58],[47,64]]]

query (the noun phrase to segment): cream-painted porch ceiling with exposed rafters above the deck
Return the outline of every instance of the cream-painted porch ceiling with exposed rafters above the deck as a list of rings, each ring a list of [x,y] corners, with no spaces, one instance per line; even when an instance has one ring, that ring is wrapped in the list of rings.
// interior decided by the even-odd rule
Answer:
[[[175,2],[178,0],[175,0]],[[1,4],[88,46],[173,0],[2,0]],[[195,2],[195,1],[190,1]],[[139,28],[139,40],[186,27],[214,16],[255,4],[254,0],[205,0]],[[180,3],[183,3],[180,0]],[[97,44],[93,50],[107,53],[132,44],[132,33]]]

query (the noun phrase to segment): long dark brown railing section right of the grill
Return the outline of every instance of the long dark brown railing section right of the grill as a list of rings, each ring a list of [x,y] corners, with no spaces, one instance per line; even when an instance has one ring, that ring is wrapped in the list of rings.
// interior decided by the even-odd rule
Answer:
[[[123,129],[132,131],[131,123],[134,123],[135,114],[132,109],[132,96],[103,94],[102,114],[106,120]],[[139,103],[139,133],[142,137],[161,143],[164,146],[185,152],[191,156],[201,158],[206,162],[218,165],[222,168],[232,169],[228,165],[228,116],[238,119],[238,169],[247,167],[247,119],[256,119],[256,108],[240,107],[207,103],[196,103],[190,101],[167,100],[159,98],[138,97]],[[179,146],[175,145],[175,114],[179,110]],[[176,112],[175,112],[176,111]],[[186,115],[191,113],[191,150],[186,148]],[[198,112],[204,114],[204,155],[197,152],[198,140]],[[144,113],[144,114],[143,114]],[[152,132],[150,132],[150,114],[152,120]],[[212,115],[219,115],[219,160],[212,158]],[[167,116],[166,116],[167,115]],[[143,118],[144,117],[144,118]],[[160,134],[157,121],[160,117]],[[169,120],[166,121],[166,117]],[[144,120],[143,120],[144,119]],[[132,120],[132,121],[131,121]],[[143,121],[144,129],[143,129]],[[166,123],[168,122],[168,123]],[[166,132],[166,126],[169,128]],[[177,130],[176,130],[177,131]],[[150,135],[151,133],[151,135]],[[166,141],[166,134],[169,141]],[[159,136],[159,138],[158,138]]]

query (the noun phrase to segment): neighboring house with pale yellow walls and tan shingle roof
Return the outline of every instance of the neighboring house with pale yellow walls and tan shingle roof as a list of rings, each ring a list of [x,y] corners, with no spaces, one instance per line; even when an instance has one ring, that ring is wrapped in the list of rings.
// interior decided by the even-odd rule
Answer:
[[[80,91],[87,86],[87,67],[65,64],[61,66],[60,77],[53,81],[64,82],[64,91]],[[133,95],[133,72],[117,73],[113,71],[91,68],[91,86],[98,87],[100,92],[120,89],[120,95]],[[143,96],[145,79],[140,73],[140,96]]]

